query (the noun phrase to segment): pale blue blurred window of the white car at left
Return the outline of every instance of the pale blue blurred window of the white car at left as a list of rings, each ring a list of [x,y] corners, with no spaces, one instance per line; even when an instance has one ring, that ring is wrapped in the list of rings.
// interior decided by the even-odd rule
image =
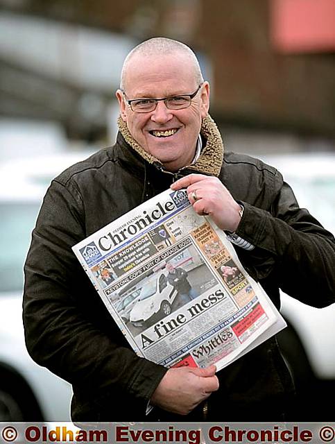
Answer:
[[[23,266],[39,203],[0,203],[0,292],[22,291]]]

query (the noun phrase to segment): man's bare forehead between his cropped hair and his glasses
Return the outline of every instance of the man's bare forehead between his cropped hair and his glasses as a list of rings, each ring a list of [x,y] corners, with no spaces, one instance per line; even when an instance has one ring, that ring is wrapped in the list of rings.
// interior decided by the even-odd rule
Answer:
[[[164,97],[193,92],[197,87],[192,60],[182,54],[133,56],[124,87],[131,97]]]

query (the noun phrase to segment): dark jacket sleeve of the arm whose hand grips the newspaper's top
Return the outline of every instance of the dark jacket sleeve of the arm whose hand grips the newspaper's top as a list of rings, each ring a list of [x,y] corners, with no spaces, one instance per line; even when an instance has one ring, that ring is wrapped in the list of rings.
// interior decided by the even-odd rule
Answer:
[[[277,171],[267,210],[243,202],[237,234],[255,246],[239,252],[257,280],[272,280],[313,307],[335,302],[335,239],[305,209]]]

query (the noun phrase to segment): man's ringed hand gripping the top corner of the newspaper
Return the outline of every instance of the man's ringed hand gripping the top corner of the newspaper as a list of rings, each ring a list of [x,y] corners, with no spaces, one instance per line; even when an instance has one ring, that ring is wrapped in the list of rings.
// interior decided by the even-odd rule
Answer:
[[[221,230],[232,232],[237,230],[241,221],[239,214],[241,207],[218,178],[203,174],[190,174],[176,180],[171,185],[173,190],[182,188],[187,189],[189,201],[200,216],[211,216]]]

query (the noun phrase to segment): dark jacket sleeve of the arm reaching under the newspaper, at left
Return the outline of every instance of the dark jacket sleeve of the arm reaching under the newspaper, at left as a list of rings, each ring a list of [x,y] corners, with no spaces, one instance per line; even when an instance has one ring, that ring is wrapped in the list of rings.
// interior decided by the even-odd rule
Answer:
[[[25,264],[28,352],[37,364],[85,393],[127,397],[143,404],[145,411],[166,369],[137,357],[112,318],[100,316],[110,314],[71,250],[86,237],[83,208],[74,185],[53,181]],[[114,327],[106,327],[110,323]]]

